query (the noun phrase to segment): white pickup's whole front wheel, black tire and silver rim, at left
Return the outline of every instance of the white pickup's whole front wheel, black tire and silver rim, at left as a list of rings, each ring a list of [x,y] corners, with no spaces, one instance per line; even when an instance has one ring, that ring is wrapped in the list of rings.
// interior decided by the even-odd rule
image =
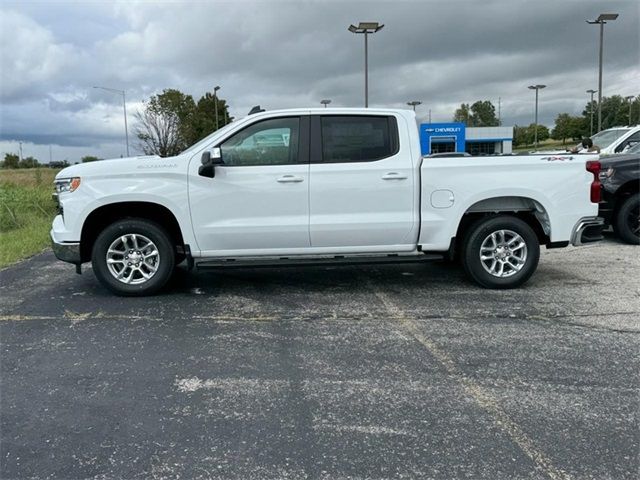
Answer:
[[[171,277],[175,253],[162,227],[132,218],[114,222],[98,235],[91,264],[100,283],[117,295],[150,295]]]

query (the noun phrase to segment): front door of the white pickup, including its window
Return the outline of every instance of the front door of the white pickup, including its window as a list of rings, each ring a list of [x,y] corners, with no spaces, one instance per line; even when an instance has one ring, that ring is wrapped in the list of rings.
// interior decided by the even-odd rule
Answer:
[[[203,256],[310,246],[308,138],[307,116],[258,121],[218,145],[223,164],[214,178],[191,168],[191,218]]]

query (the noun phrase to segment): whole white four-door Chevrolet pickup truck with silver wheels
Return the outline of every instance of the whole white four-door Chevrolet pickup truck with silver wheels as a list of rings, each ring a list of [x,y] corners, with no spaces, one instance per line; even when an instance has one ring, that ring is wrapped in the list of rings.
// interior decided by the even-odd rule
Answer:
[[[415,115],[261,111],[171,158],[56,177],[56,256],[119,295],[189,268],[459,259],[487,288],[547,248],[600,240],[597,155],[422,157]]]

